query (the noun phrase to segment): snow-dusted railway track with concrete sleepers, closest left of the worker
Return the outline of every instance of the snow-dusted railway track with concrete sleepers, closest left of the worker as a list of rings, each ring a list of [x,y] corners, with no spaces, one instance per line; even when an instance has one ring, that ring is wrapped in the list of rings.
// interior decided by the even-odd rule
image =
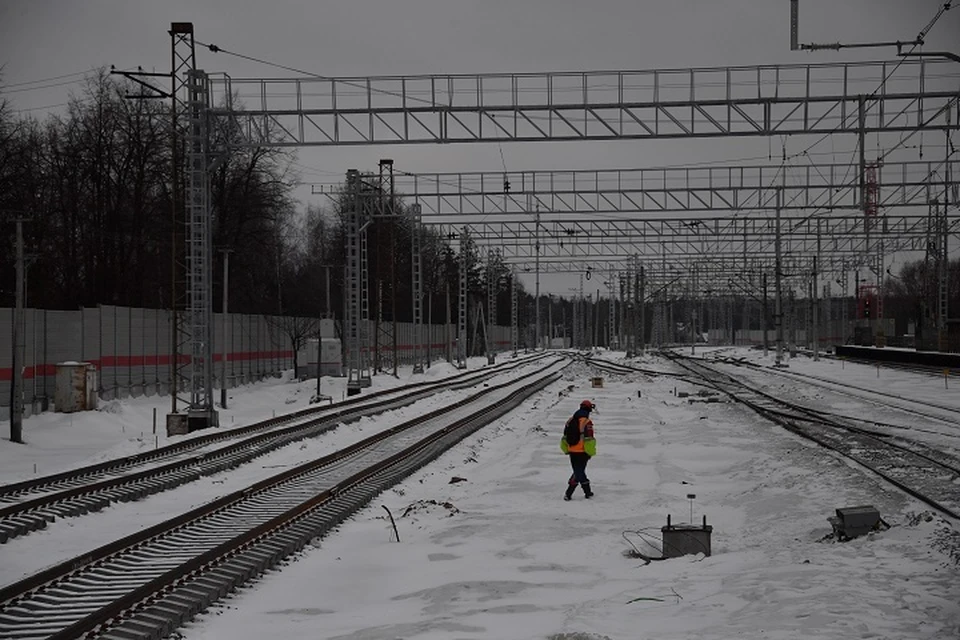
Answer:
[[[538,371],[0,589],[0,637],[160,638],[560,378]]]

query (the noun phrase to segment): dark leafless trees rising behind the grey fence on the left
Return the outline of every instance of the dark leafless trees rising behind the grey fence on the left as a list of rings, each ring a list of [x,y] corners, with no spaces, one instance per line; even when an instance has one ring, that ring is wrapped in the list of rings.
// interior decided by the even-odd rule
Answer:
[[[183,196],[173,190],[169,104],[126,97],[135,93],[128,81],[101,70],[86,79],[63,113],[40,120],[16,115],[0,85],[0,306],[14,304],[13,221],[18,216],[27,218],[29,306],[169,308],[173,303],[173,264],[177,251],[183,251],[184,229],[173,213],[175,203],[182,211]],[[229,123],[217,123],[212,146],[221,148],[237,135]],[[299,182],[295,160],[291,152],[275,148],[234,146],[211,172],[215,308],[222,294],[216,252],[229,249],[231,311],[342,315],[343,221],[349,204],[339,197],[329,206],[310,204],[302,210],[293,197]],[[179,179],[184,184],[185,175]],[[363,195],[388,214],[368,232],[371,313],[409,321],[413,227],[402,194],[367,188]],[[457,250],[430,228],[423,229],[421,242],[424,293],[432,294],[424,319],[429,315],[442,322],[448,282],[456,302]],[[485,257],[475,246],[470,251],[470,292],[485,296]],[[497,322],[509,324],[504,271],[501,264]]]

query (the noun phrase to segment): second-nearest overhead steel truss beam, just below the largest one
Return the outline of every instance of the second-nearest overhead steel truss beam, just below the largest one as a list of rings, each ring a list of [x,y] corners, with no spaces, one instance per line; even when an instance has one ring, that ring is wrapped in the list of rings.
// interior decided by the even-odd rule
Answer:
[[[960,160],[886,162],[874,167],[875,209],[925,206]],[[558,220],[583,215],[863,209],[859,171],[849,164],[752,165],[674,169],[398,174],[398,193],[420,204],[425,219],[463,215],[493,222],[523,217],[527,200]],[[504,184],[510,191],[504,193]],[[524,196],[524,199],[521,199]]]

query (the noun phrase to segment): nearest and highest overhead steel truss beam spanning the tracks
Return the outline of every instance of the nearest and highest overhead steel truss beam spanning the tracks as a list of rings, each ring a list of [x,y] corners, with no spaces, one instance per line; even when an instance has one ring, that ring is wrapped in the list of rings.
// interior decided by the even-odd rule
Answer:
[[[957,110],[958,78],[946,60],[223,77],[214,103],[246,144],[269,146],[870,133],[951,128],[946,118]]]

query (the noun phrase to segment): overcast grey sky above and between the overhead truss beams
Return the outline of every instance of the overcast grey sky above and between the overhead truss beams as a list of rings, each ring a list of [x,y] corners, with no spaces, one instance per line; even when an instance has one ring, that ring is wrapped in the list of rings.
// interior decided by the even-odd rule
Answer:
[[[891,59],[895,51],[793,52],[789,0],[0,0],[0,64],[16,109],[58,110],[78,76],[116,65],[169,71],[172,21],[199,41],[325,75],[485,73]],[[942,0],[800,0],[800,41],[910,40]],[[956,4],[956,3],[955,3]],[[960,6],[927,37],[960,52]],[[201,68],[233,77],[290,73],[200,49]],[[19,85],[19,86],[9,86]],[[49,86],[54,85],[54,86]],[[47,86],[48,88],[38,88]],[[847,150],[854,140],[824,143]],[[809,140],[788,144],[797,148]],[[788,150],[789,151],[789,150]],[[382,157],[405,171],[499,171],[656,166],[765,155],[766,140],[512,143],[303,149],[305,182],[374,170]],[[829,158],[825,158],[827,161]],[[900,159],[916,159],[903,157]],[[309,188],[298,195],[310,199]],[[318,202],[320,196],[316,196]]]

